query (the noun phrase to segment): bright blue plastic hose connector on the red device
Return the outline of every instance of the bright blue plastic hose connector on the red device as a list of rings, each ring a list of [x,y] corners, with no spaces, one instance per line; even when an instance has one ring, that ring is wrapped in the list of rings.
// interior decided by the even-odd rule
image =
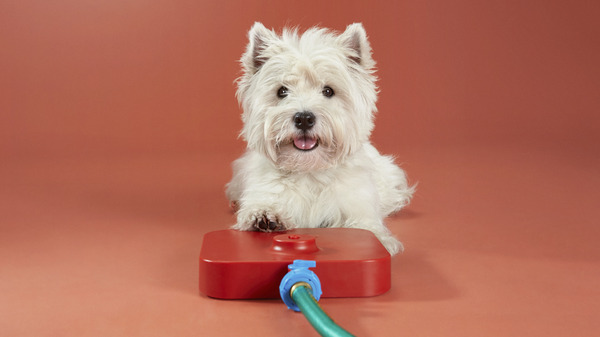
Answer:
[[[316,261],[307,260],[294,260],[294,263],[288,265],[290,271],[283,277],[279,284],[279,294],[288,309],[300,311],[300,308],[298,308],[290,294],[292,286],[298,282],[306,282],[310,285],[315,300],[318,301],[321,298],[321,294],[323,293],[321,291],[321,281],[319,281],[317,274],[308,269],[316,266]]]

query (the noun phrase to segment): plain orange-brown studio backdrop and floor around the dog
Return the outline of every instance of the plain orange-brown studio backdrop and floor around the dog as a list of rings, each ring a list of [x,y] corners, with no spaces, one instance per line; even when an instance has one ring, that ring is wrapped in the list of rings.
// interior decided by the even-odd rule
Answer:
[[[600,333],[593,1],[3,1],[0,331],[310,336],[277,300],[198,294],[254,21],[363,22],[373,142],[418,182],[392,290],[323,299],[359,336]]]

